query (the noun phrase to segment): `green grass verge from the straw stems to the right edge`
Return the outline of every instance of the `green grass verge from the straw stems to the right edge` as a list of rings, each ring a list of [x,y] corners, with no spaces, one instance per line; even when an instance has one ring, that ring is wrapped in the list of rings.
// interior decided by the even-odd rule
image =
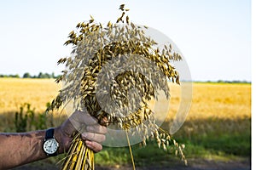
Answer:
[[[163,124],[165,126],[165,124]],[[189,131],[188,129],[196,129]],[[251,118],[241,119],[207,119],[185,122],[183,127],[174,134],[177,142],[185,144],[184,154],[189,160],[213,159],[216,161],[242,160],[251,156]],[[132,146],[135,163],[139,167],[177,163],[177,157],[158,150],[153,142],[147,147]],[[128,147],[104,147],[96,154],[96,162],[101,166],[122,166],[130,164]]]

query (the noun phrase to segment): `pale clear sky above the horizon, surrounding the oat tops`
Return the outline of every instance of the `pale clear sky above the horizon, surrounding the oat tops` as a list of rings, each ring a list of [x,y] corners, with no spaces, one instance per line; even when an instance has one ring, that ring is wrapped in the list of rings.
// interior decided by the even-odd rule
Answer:
[[[150,26],[176,43],[194,81],[252,81],[251,1],[249,0],[1,0],[0,74],[61,74],[58,59],[77,23],[107,24],[130,8],[133,23]]]

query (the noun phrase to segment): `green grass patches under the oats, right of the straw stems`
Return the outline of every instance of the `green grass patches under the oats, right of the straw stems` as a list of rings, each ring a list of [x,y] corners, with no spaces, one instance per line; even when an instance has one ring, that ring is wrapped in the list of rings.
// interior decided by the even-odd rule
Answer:
[[[160,150],[154,141],[148,141],[147,147],[142,144],[132,145],[132,153],[137,167],[151,167],[157,165],[160,167],[162,164],[170,164],[171,161],[177,161],[183,166],[183,162],[179,161],[171,150],[172,147],[167,147],[167,150]],[[173,149],[173,148],[172,148]],[[167,154],[172,153],[172,154]],[[95,155],[96,163],[102,167],[122,167],[131,164],[131,156],[129,147],[104,147],[103,150]]]

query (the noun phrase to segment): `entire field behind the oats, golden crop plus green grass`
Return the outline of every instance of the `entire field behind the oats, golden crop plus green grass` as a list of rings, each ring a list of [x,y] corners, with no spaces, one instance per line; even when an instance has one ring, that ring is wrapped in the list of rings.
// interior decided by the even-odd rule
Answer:
[[[61,85],[55,84],[53,79],[0,78],[0,130],[15,132],[14,116],[20,105],[29,103],[36,112],[42,113],[46,103],[55,97],[60,88]],[[175,115],[180,101],[179,88],[171,88],[172,107],[169,119]],[[55,116],[55,119],[59,119],[58,122],[63,120],[60,116]],[[163,127],[167,124],[168,121],[164,122]],[[227,167],[240,162],[241,167],[249,169],[251,84],[194,82],[189,115],[183,127],[173,137],[186,145],[184,153],[191,167],[204,166],[206,162],[217,167],[224,163],[223,166]],[[132,148],[138,167],[182,164],[174,154],[157,149],[152,142],[146,148],[141,148],[138,144]],[[43,162],[54,161],[49,159]],[[100,162],[99,167],[117,168],[131,164],[127,148],[105,147],[96,154],[96,163]]]

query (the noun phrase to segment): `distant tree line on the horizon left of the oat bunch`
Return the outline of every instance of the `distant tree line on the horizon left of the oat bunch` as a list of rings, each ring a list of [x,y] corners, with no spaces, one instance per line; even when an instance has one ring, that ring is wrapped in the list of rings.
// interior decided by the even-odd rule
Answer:
[[[0,74],[0,77],[12,77],[12,78],[57,78],[60,77],[59,75],[55,75],[55,73],[43,73],[43,72],[39,72],[38,75],[31,75],[29,72],[26,72],[23,74],[22,77],[20,77],[20,75],[18,74],[9,74],[9,75],[4,75],[4,74]]]

